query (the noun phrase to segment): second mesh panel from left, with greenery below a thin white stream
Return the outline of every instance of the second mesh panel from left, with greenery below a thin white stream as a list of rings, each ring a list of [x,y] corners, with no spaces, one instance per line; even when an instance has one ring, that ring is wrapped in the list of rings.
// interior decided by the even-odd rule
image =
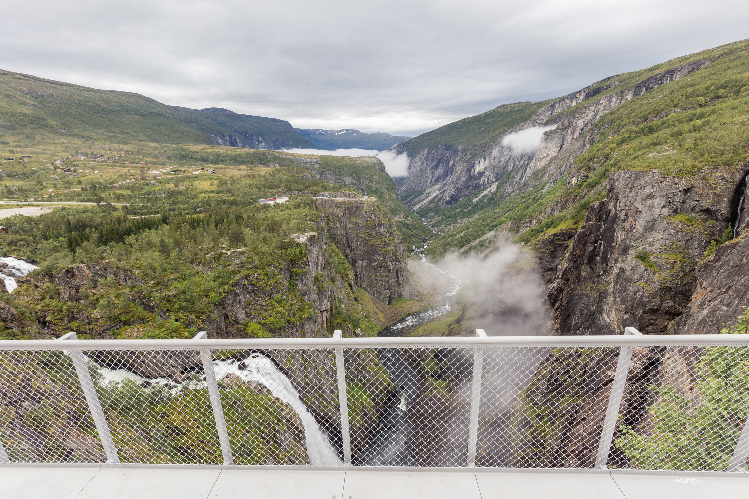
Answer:
[[[84,352],[121,462],[222,463],[200,352]]]

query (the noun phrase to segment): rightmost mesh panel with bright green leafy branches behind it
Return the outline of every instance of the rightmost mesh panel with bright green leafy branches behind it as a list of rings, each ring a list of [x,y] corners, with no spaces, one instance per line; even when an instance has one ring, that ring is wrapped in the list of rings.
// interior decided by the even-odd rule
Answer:
[[[749,349],[640,348],[638,364],[658,375],[630,370],[628,413],[614,438],[616,468],[748,471],[748,456],[735,453],[742,432],[749,437]]]

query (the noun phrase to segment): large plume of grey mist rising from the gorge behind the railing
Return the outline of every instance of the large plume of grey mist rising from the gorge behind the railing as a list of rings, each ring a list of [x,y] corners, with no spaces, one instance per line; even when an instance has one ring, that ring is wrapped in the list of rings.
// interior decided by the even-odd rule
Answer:
[[[539,336],[550,334],[542,299],[544,289],[536,260],[509,239],[498,238],[488,254],[461,257],[451,254],[437,265],[461,279],[456,305],[468,302],[470,328],[482,328],[489,336]],[[464,327],[464,331],[466,328]],[[479,417],[491,414],[484,427],[482,460],[508,466],[515,457],[509,441],[509,422],[515,399],[533,379],[548,353],[545,347],[493,348],[484,350],[482,399]],[[455,369],[467,364],[470,354],[456,355]],[[466,371],[468,373],[468,371]],[[468,415],[472,379],[467,374],[455,390],[462,404],[453,409],[449,425],[441,429],[443,450],[436,456],[444,466],[463,465],[468,447]],[[444,420],[444,418],[443,418]],[[437,418],[435,418],[437,423]]]

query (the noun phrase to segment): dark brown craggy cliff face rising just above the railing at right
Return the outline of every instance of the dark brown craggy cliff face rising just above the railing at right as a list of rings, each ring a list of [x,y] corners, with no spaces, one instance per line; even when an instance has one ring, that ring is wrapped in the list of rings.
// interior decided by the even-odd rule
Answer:
[[[558,266],[548,290],[554,331],[621,334],[637,325],[643,333],[664,333],[687,309],[705,251],[730,223],[742,174],[724,168],[712,174],[712,183],[643,171],[614,174],[607,198],[590,206],[574,239],[556,242],[551,234],[539,241],[541,251],[558,259],[547,265]],[[568,245],[563,254],[555,251],[560,245]],[[711,261],[727,248],[721,250]],[[707,269],[703,275],[709,278]]]

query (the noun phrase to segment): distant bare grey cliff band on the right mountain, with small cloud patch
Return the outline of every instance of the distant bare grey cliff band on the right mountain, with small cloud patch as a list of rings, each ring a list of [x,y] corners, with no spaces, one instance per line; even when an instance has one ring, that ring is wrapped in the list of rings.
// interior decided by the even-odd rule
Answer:
[[[554,183],[570,170],[572,160],[598,138],[589,132],[604,114],[710,62],[691,61],[663,70],[622,91],[595,99],[620,84],[620,75],[610,76],[544,105],[530,119],[518,123],[490,144],[466,144],[467,147],[439,144],[433,148],[411,150],[410,141],[405,141],[395,147],[398,153],[410,156],[409,176],[398,193],[401,198],[407,198],[407,206],[418,211],[428,205],[450,206],[487,186],[494,193],[497,183],[505,175],[509,177],[501,179],[503,185],[500,186],[504,195],[517,195],[533,186]],[[540,126],[554,129],[543,132],[539,147],[533,152],[518,153],[505,142],[508,135]],[[542,174],[537,174],[539,171]],[[414,192],[419,192],[419,195],[409,198]]]

